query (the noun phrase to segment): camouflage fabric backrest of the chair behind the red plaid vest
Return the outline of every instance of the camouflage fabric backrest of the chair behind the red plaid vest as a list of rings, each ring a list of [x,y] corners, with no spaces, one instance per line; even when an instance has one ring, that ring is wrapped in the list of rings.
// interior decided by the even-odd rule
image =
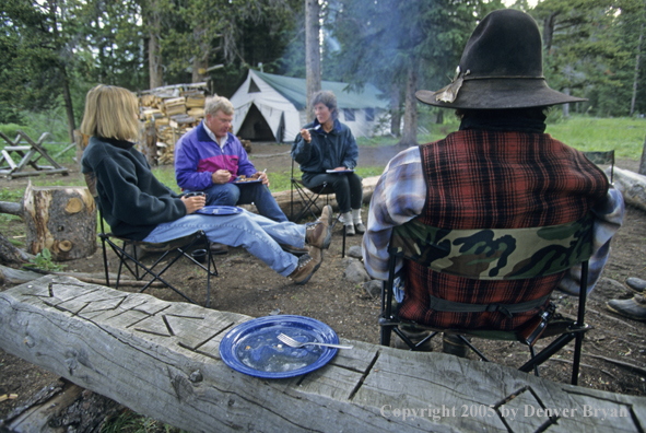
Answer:
[[[437,272],[516,280],[565,271],[591,255],[592,216],[530,229],[444,230],[416,220],[396,226],[389,253]]]

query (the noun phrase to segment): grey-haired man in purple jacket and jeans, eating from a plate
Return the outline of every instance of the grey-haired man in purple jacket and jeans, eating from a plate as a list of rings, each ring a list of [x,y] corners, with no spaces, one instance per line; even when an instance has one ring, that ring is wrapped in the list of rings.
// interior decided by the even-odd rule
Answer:
[[[255,203],[261,215],[285,222],[287,218],[269,191],[267,174],[256,169],[240,141],[228,132],[233,113],[227,98],[207,98],[204,120],[175,144],[177,185],[185,191],[204,191],[207,206]],[[239,176],[260,182],[235,183]]]

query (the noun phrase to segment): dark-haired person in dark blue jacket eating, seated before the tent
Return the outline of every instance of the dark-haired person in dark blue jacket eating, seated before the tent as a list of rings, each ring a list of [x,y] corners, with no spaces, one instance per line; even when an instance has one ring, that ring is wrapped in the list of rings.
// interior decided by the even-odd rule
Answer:
[[[363,234],[362,178],[353,172],[359,159],[356,141],[350,128],[339,121],[337,97],[332,92],[317,92],[312,98],[312,106],[316,119],[305,125],[296,136],[292,157],[301,165],[302,180],[307,188],[316,188],[324,183],[332,187],[345,234]]]

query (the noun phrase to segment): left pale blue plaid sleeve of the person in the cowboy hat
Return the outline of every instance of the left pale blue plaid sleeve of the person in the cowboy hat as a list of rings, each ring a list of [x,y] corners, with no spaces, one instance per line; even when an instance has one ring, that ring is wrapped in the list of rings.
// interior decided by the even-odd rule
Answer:
[[[392,227],[420,215],[425,200],[420,148],[409,148],[390,160],[371,199],[362,248],[365,268],[373,278],[388,278],[388,243]]]

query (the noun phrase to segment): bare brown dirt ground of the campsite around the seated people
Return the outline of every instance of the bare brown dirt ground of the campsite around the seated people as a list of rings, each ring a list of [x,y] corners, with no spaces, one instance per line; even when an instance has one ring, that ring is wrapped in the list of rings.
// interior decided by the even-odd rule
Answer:
[[[400,149],[361,148],[360,165],[384,165]],[[268,173],[284,171],[290,166],[287,145],[254,144],[251,159]],[[619,161],[618,166],[637,171],[635,161]],[[77,167],[71,176],[80,176]],[[168,167],[172,169],[172,167]],[[57,175],[58,176],[58,175]],[[0,179],[1,188],[24,188],[26,179]],[[364,221],[367,220],[364,207]],[[587,321],[594,327],[586,335],[579,385],[588,388],[646,396],[646,324],[620,317],[606,308],[606,301],[632,296],[624,281],[629,277],[646,279],[646,214],[629,207],[624,225],[613,239],[610,261],[602,280],[592,292],[587,305]],[[16,224],[20,225],[20,224]],[[4,229],[7,237],[24,234],[24,227]],[[294,314],[316,318],[330,325],[341,338],[378,343],[377,317],[379,299],[371,296],[361,284],[344,278],[349,258],[341,257],[342,236],[334,231],[332,245],[326,251],[319,271],[304,286],[271,271],[262,262],[242,248],[233,248],[225,256],[216,257],[220,277],[213,280],[211,307],[246,314],[252,317],[269,314]],[[361,244],[361,236],[348,237],[348,246]],[[67,271],[101,272],[103,264],[99,250],[86,259],[64,262]],[[205,277],[187,267],[175,267],[169,279],[181,284],[198,303],[205,301]],[[5,290],[7,286],[0,288]],[[124,290],[134,290],[124,288]],[[146,292],[167,301],[181,301],[168,290]],[[555,296],[561,313],[576,314],[576,300]],[[434,350],[441,350],[436,339]],[[540,341],[537,348],[547,346]],[[526,361],[527,350],[519,343],[492,343],[475,341],[492,354],[493,361],[519,366]],[[491,350],[493,349],[493,350]],[[541,377],[568,383],[573,344],[562,354],[541,367]],[[470,355],[475,359],[474,355]],[[0,420],[13,408],[23,405],[31,396],[58,377],[0,351],[0,397],[15,394],[17,398],[0,401]]]

